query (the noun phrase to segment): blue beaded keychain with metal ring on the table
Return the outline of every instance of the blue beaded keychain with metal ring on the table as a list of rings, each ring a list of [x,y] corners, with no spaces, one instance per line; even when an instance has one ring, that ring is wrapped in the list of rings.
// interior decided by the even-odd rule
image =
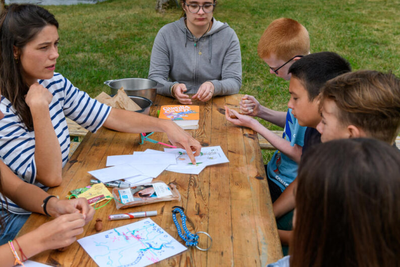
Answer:
[[[182,238],[183,241],[185,241],[186,245],[188,247],[193,247],[195,246],[197,249],[199,250],[203,250],[203,251],[207,251],[211,248],[212,245],[212,238],[211,236],[206,233],[206,232],[197,232],[195,234],[192,234],[191,232],[189,232],[188,228],[186,227],[186,215],[183,212],[184,208],[181,206],[173,206],[172,207],[172,219],[174,220],[175,226],[177,227],[178,230],[178,235]],[[181,215],[181,221],[182,221],[182,228],[183,231],[185,231],[185,234],[182,234],[182,230],[181,230],[181,226],[179,225],[178,221],[177,221],[177,213],[180,213]],[[199,242],[199,235],[198,234],[205,234],[206,236],[208,236],[208,238],[210,239],[210,246],[208,248],[200,248],[197,244]]]

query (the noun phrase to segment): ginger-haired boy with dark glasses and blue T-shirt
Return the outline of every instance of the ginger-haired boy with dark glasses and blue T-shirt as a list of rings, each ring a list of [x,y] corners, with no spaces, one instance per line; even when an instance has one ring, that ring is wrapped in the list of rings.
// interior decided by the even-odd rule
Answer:
[[[280,18],[274,20],[264,31],[257,49],[260,58],[269,66],[270,73],[285,80],[289,80],[290,66],[301,57],[310,53],[310,38],[306,28],[299,22]],[[291,110],[287,112],[274,111],[260,105],[250,95],[245,95],[240,102],[243,114],[259,117],[284,128],[280,138],[257,120],[247,116],[237,115],[238,119],[226,119],[236,125],[247,126],[260,133],[278,150],[271,161],[265,166],[269,191],[272,202],[296,178],[297,164],[300,162],[304,133],[306,128],[301,127]],[[226,112],[228,114],[229,111]]]

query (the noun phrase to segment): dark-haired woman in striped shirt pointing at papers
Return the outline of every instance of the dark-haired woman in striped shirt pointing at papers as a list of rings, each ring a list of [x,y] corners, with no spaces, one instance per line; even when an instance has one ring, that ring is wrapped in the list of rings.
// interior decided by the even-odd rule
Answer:
[[[192,162],[200,143],[174,122],[111,109],[54,73],[59,57],[58,22],[36,5],[10,5],[0,16],[0,157],[25,182],[46,189],[62,182],[70,138],[65,117],[87,130],[101,126],[122,132],[165,132],[186,149]],[[1,195],[0,195],[1,196]],[[2,197],[3,203],[5,198]],[[29,212],[8,201],[3,214],[17,232]]]

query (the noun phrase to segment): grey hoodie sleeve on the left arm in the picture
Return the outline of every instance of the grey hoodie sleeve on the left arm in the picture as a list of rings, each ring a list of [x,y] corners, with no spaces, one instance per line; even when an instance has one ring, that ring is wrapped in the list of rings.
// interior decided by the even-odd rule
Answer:
[[[148,78],[159,83],[159,88],[157,88],[158,94],[172,96],[169,93],[169,86],[173,82],[168,81],[170,70],[169,51],[165,43],[166,40],[160,30],[155,36],[153,49],[151,50]]]

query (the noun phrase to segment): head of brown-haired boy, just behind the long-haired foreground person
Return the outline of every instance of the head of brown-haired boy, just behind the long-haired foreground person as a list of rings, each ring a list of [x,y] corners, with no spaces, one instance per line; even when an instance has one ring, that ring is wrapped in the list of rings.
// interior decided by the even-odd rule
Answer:
[[[400,80],[362,70],[328,81],[320,96],[321,141],[372,137],[394,144],[400,131]]]

